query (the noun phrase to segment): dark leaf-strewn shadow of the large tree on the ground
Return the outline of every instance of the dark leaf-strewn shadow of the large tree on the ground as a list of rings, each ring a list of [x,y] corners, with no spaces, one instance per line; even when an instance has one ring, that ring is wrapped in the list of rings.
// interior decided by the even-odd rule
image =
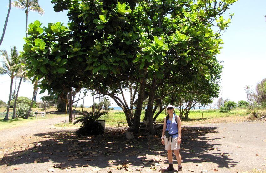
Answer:
[[[35,142],[35,147],[28,147],[22,151],[14,151],[3,156],[0,165],[20,165],[49,162],[50,165],[61,169],[67,167],[82,167],[83,165],[108,168],[118,164],[141,166],[141,159],[160,158],[168,164],[167,154],[161,144],[160,135],[154,137],[138,136],[134,140],[127,140],[126,129],[110,127],[100,136],[77,137],[72,130],[55,131],[52,133],[38,133],[35,136],[41,140]],[[215,154],[210,149],[219,143],[215,138],[207,138],[208,133],[216,132],[216,127],[183,127],[181,155],[184,163],[201,163],[204,160],[218,164],[218,167],[236,165],[237,162],[228,158],[228,154]],[[215,136],[215,135],[214,135]],[[38,144],[37,144],[38,143]],[[112,160],[112,161],[111,161]],[[165,166],[166,166],[165,165]],[[145,165],[145,168],[149,165]],[[151,166],[150,166],[151,167]],[[135,170],[134,170],[135,171]]]

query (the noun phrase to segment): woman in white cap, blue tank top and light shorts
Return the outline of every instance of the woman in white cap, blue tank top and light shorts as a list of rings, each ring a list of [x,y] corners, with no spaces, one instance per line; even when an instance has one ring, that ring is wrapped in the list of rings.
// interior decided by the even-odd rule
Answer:
[[[174,151],[178,163],[178,172],[181,172],[181,155],[179,152],[181,143],[181,120],[179,116],[176,116],[173,113],[174,108],[172,105],[169,104],[166,109],[168,115],[164,117],[163,120],[163,134],[161,142],[164,145],[165,150],[167,150],[169,166],[164,169],[164,171],[174,170],[172,155],[172,151]]]

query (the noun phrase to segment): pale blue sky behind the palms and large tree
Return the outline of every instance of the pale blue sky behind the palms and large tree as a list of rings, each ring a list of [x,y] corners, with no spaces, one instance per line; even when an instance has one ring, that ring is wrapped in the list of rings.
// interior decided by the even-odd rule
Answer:
[[[3,0],[0,6],[0,32],[2,34],[6,14],[8,11],[8,0]],[[66,12],[56,13],[50,1],[39,0],[40,6],[45,13],[40,16],[36,12],[29,12],[28,24],[39,20],[42,26],[47,26],[51,22],[68,23]],[[256,3],[249,0],[238,0],[233,4],[228,13],[234,12],[235,15],[229,25],[228,30],[222,36],[224,44],[221,54],[218,55],[218,61],[224,61],[223,71],[220,79],[220,97],[229,98],[232,101],[247,100],[244,87],[250,85],[252,88],[263,78],[266,78],[266,1],[257,0]],[[11,8],[8,19],[4,40],[0,49],[6,49],[10,52],[10,46],[16,46],[19,51],[23,50],[25,37],[25,12],[20,9]],[[1,58],[2,60],[2,58]],[[19,79],[16,81],[18,86]],[[10,78],[7,75],[0,76],[0,99],[8,101]],[[13,89],[15,82],[13,83]],[[31,98],[33,85],[30,82],[23,83],[19,96]],[[47,93],[46,93],[47,94]],[[44,95],[44,94],[42,94]],[[40,101],[37,95],[37,101]],[[115,105],[112,101],[112,105]],[[216,99],[214,99],[216,103]],[[81,104],[81,103],[78,103]],[[92,97],[85,98],[85,106],[92,104]]]

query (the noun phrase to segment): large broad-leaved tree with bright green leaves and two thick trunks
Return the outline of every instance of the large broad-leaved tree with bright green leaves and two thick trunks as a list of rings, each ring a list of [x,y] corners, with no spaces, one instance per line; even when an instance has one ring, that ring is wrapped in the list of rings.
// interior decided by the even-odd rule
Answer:
[[[123,81],[138,83],[131,125],[137,132],[145,91],[152,128],[158,89],[210,80],[213,67],[206,64],[217,62],[219,37],[230,23],[222,15],[235,0],[52,2],[56,12],[69,10],[69,30],[60,22],[45,30],[38,21],[29,26],[23,53],[28,74],[44,77],[43,91],[55,93],[91,83],[100,92]]]

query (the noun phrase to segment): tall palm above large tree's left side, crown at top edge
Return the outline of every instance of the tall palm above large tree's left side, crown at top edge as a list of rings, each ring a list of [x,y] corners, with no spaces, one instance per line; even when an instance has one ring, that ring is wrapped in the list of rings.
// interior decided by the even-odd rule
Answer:
[[[12,5],[14,7],[20,8],[26,13],[26,37],[28,31],[28,14],[29,11],[38,12],[40,15],[44,14],[44,10],[39,6],[38,0],[18,0],[13,1]]]

